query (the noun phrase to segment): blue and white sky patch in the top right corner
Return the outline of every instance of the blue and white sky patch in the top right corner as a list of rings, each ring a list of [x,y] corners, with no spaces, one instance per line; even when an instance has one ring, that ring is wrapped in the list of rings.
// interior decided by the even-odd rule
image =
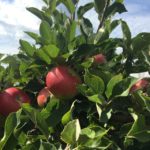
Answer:
[[[129,25],[132,35],[150,32],[150,0],[125,0],[128,12],[117,15]]]

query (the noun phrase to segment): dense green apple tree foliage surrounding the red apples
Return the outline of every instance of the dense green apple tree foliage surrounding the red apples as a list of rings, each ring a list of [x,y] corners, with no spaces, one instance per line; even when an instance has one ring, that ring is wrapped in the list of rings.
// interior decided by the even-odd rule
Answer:
[[[147,150],[149,79],[131,91],[138,79],[130,74],[149,71],[150,33],[132,37],[125,21],[113,19],[127,11],[123,0],[93,0],[84,6],[78,6],[79,0],[43,2],[42,10],[27,8],[41,19],[39,34],[26,32],[35,43],[20,40],[18,54],[0,54],[1,92],[17,87],[31,99],[31,104],[19,103],[17,112],[1,114],[0,149]],[[85,17],[90,10],[98,15],[96,31]],[[112,38],[118,26],[122,37]],[[104,56],[102,63],[95,61],[98,54]],[[40,107],[37,96],[57,66],[71,68],[80,78],[78,93],[66,99],[47,96]]]

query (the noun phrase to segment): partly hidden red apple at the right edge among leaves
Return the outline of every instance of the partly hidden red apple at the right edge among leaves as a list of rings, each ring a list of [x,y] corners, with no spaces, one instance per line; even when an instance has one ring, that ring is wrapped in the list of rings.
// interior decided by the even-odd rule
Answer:
[[[149,82],[145,79],[141,79],[139,81],[137,81],[130,89],[130,93],[134,92],[136,90],[140,90],[143,89],[145,87],[147,87],[149,85]]]

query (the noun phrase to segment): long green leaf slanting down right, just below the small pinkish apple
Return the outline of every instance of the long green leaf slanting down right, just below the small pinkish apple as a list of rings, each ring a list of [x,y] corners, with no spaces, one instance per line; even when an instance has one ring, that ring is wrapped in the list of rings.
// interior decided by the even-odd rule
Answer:
[[[49,130],[48,126],[37,109],[34,109],[29,104],[23,104],[22,110],[27,114],[27,116],[31,119],[31,121],[35,124],[35,126],[45,135],[48,139],[49,137]]]

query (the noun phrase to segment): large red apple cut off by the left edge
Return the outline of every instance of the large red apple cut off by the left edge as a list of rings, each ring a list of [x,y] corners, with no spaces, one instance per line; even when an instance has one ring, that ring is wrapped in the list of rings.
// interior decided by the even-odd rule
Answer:
[[[20,108],[19,103],[30,103],[30,98],[22,90],[10,87],[0,93],[0,113],[7,116]]]

